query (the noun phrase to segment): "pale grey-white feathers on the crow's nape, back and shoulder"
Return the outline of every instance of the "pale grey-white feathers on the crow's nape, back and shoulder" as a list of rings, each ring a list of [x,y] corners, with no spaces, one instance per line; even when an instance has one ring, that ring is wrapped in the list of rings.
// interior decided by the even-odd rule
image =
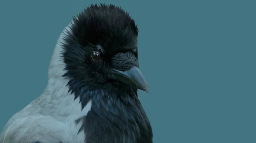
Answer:
[[[71,23],[70,23],[71,24]],[[62,77],[66,72],[61,57],[63,37],[70,31],[70,24],[62,31],[55,46],[48,71],[48,84],[44,92],[8,121],[0,135],[0,143],[84,143],[81,124],[75,120],[86,116],[91,101],[81,111],[79,98],[68,93],[69,79]]]

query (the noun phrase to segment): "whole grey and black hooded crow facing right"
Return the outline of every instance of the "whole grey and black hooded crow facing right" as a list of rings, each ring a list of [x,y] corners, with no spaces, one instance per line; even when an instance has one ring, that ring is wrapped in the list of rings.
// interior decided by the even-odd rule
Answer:
[[[153,143],[138,89],[138,27],[113,4],[92,4],[58,38],[44,92],[17,112],[0,143]]]

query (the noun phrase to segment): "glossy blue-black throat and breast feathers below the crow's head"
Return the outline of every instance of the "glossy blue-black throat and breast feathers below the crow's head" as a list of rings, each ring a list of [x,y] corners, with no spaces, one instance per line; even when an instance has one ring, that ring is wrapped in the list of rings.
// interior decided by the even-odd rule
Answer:
[[[81,84],[70,80],[75,98],[80,98],[82,109],[92,101],[90,112],[77,120],[87,135],[88,143],[137,142],[141,137],[151,143],[152,130],[145,111],[137,97],[137,89],[127,84]],[[105,142],[104,142],[105,143]]]

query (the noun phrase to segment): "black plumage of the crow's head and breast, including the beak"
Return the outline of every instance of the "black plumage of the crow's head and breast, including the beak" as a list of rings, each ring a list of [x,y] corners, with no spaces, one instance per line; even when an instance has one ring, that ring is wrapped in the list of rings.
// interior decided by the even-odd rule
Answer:
[[[148,92],[148,86],[138,70],[134,19],[112,4],[91,5],[73,17],[70,28],[62,43],[63,76],[70,79],[67,86],[82,109],[92,101],[87,116],[76,121],[83,123],[79,132],[86,134],[87,143],[152,143],[137,95],[138,88]],[[123,76],[131,69],[137,78]]]

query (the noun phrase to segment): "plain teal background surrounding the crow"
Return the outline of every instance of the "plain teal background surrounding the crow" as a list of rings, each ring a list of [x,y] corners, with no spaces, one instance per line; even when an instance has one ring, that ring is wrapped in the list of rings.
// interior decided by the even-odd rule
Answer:
[[[154,143],[256,143],[255,0],[1,0],[0,131],[43,92],[71,17],[104,2],[140,28]]]

